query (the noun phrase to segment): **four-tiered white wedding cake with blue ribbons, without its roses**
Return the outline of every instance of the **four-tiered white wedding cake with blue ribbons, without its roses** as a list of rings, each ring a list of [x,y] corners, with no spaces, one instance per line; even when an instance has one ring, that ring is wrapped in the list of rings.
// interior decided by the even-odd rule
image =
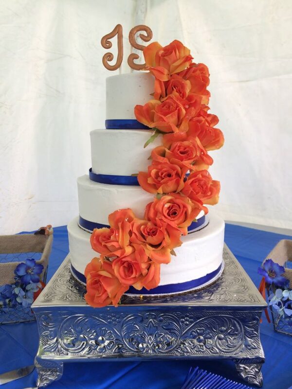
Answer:
[[[90,244],[92,230],[109,227],[109,214],[119,209],[131,208],[143,218],[146,205],[154,200],[155,195],[137,185],[133,176],[147,171],[151,150],[162,143],[159,135],[143,148],[151,132],[134,115],[134,107],[151,98],[153,85],[149,72],[120,74],[106,80],[107,128],[91,131],[92,168],[90,175],[77,179],[79,216],[68,225],[72,272],[83,283],[86,266],[98,256]],[[128,292],[178,293],[203,287],[219,277],[223,270],[224,221],[201,211],[188,231],[171,262],[161,265],[159,286],[149,291],[131,287]]]

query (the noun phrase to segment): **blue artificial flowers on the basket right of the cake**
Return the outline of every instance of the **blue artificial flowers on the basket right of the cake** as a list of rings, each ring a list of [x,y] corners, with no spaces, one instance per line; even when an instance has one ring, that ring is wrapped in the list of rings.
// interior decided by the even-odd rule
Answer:
[[[284,277],[285,268],[276,264],[272,259],[267,259],[257,272],[263,276],[259,287],[263,297],[265,296],[264,290],[268,291],[269,306],[273,308],[272,313],[274,311],[275,328],[280,320],[285,319],[285,327],[290,327],[292,331],[292,290],[289,289],[289,280]]]

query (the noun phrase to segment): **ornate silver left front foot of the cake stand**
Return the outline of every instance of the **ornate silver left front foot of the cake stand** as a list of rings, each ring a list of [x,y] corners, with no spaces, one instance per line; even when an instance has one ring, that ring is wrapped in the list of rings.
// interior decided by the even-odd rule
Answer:
[[[45,388],[53,381],[59,380],[63,374],[63,362],[44,360],[36,357],[37,388]]]

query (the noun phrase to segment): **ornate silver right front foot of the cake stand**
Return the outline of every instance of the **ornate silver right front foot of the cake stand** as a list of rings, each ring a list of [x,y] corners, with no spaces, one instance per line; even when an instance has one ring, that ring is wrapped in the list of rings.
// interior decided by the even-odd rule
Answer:
[[[258,387],[263,385],[263,376],[261,373],[261,367],[264,363],[264,359],[255,358],[255,359],[236,359],[235,365],[238,374],[246,382]]]

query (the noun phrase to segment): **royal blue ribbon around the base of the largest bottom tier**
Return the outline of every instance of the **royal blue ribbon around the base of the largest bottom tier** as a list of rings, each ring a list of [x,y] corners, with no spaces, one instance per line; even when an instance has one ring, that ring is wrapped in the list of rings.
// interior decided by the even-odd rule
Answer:
[[[197,278],[196,280],[187,281],[185,283],[170,283],[168,285],[160,285],[150,290],[147,290],[146,288],[142,288],[141,290],[138,290],[135,289],[133,286],[130,286],[126,293],[138,294],[138,295],[154,295],[154,294],[164,295],[168,293],[184,292],[186,290],[195,289],[196,287],[208,283],[219,274],[221,268],[222,268],[222,264],[218,267],[218,269],[212,271],[209,274],[206,274],[204,277]],[[71,264],[71,271],[78,281],[86,284],[85,275],[80,273],[78,270],[76,270],[72,264]]]

